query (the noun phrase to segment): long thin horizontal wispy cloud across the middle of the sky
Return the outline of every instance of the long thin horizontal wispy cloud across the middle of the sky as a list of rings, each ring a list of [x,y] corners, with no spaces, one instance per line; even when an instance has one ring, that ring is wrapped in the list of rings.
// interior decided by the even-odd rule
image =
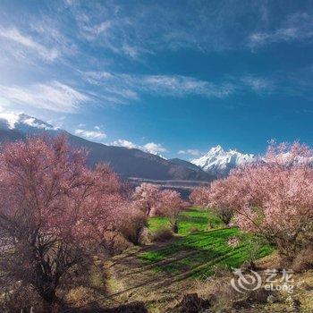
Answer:
[[[101,88],[101,97],[115,104],[139,100],[144,94],[156,97],[226,98],[234,93],[272,92],[275,80],[255,74],[226,76],[217,82],[182,75],[140,75],[116,72],[84,72],[84,80]]]

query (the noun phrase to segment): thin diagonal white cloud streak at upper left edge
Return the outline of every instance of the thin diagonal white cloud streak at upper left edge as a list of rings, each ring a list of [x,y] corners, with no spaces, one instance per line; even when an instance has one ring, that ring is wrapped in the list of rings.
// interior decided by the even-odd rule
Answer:
[[[0,37],[9,40],[22,47],[35,51],[41,58],[46,61],[54,61],[58,57],[56,49],[48,49],[47,47],[39,44],[30,36],[21,34],[20,30],[16,28],[0,28]]]

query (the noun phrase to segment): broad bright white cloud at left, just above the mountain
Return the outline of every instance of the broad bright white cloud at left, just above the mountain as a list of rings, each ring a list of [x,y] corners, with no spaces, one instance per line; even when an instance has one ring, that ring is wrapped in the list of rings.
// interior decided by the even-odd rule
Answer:
[[[89,97],[59,81],[28,87],[0,85],[0,97],[12,104],[35,106],[55,112],[75,112]]]

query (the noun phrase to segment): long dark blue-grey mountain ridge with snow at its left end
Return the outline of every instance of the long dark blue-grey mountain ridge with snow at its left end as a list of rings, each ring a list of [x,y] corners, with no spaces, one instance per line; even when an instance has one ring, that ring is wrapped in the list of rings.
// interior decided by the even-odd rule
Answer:
[[[65,133],[72,146],[89,150],[89,165],[108,163],[123,178],[192,182],[211,182],[215,179],[215,176],[184,160],[166,160],[138,148],[107,146],[85,140],[27,114],[0,115],[0,142],[24,140],[27,136],[42,133],[50,136]]]

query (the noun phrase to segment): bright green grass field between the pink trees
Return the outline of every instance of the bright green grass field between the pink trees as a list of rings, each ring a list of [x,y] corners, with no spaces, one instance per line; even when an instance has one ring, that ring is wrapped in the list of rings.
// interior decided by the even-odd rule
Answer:
[[[167,225],[165,217],[152,217],[148,229],[155,233]],[[227,244],[233,236],[241,238],[236,248]],[[212,275],[218,268],[241,266],[245,260],[265,257],[271,251],[268,246],[256,246],[254,238],[241,235],[238,228],[224,228],[212,212],[193,207],[182,212],[175,240],[160,249],[141,252],[139,258],[159,273],[201,277]]]

